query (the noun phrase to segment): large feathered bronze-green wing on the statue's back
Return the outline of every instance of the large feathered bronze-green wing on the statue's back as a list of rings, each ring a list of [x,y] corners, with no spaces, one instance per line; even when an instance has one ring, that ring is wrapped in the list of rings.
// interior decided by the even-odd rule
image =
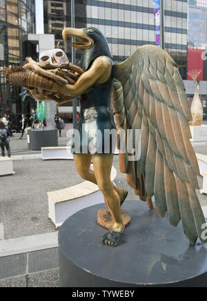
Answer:
[[[120,153],[121,172],[150,207],[155,196],[159,216],[168,211],[172,226],[182,221],[191,244],[198,237],[207,242],[201,237],[206,220],[195,193],[199,166],[190,143],[192,117],[175,62],[156,46],[142,46],[114,66],[114,77],[119,130],[141,129],[141,157],[129,162],[128,153]]]

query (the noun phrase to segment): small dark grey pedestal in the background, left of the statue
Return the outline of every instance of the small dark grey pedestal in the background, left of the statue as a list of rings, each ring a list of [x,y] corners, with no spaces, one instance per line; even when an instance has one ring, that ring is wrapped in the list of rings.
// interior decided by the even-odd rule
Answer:
[[[28,130],[29,150],[41,150],[42,147],[58,146],[57,129]]]

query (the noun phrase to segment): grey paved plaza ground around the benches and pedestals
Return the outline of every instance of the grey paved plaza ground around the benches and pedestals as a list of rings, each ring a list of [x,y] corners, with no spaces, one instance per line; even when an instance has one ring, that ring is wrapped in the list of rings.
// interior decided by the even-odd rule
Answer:
[[[59,137],[59,146],[68,143],[66,132],[71,127],[68,124],[63,137]],[[4,240],[57,232],[48,218],[47,192],[82,182],[72,161],[43,162],[40,152],[28,150],[26,135],[19,139],[15,134],[10,140],[16,174],[0,177],[0,249]],[[194,148],[196,153],[207,155],[207,144],[196,144]],[[21,159],[23,155],[33,158]],[[118,171],[115,183],[128,188],[125,175],[119,173],[118,156],[114,166]],[[128,191],[128,200],[136,200],[132,189]],[[201,204],[207,205],[207,195],[197,193]],[[0,287],[58,287],[58,266],[57,247],[3,258],[0,255]]]

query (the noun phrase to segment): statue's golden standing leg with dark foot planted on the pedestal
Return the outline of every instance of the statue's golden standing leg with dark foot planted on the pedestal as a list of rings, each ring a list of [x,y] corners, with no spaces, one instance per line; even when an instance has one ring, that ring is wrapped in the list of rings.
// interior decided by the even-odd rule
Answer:
[[[97,184],[104,195],[108,211],[110,211],[115,222],[110,232],[102,237],[102,242],[110,246],[117,246],[121,242],[124,223],[121,218],[120,197],[110,180],[112,160],[113,155],[94,155],[92,157]]]

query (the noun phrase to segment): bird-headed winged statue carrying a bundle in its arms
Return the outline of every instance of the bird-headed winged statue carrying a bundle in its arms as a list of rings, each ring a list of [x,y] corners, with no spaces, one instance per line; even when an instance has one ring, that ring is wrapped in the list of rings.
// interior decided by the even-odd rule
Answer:
[[[202,237],[206,220],[195,192],[199,189],[199,166],[190,143],[188,122],[192,116],[175,61],[159,47],[147,45],[121,64],[113,65],[106,38],[97,28],[66,28],[63,39],[68,37],[77,39],[72,46],[83,50],[81,68],[63,64],[58,72],[50,70],[48,76],[46,71],[51,66],[34,64],[37,66],[34,70],[30,64],[29,68],[5,70],[5,74],[8,81],[29,87],[33,97],[47,100],[51,99],[52,93],[57,105],[81,96],[79,130],[81,135],[83,131],[88,135],[87,143],[92,144],[92,153],[88,153],[90,156],[86,160],[83,156],[76,159],[75,165],[81,177],[99,185],[115,220],[112,229],[102,237],[103,244],[117,246],[121,242],[124,226],[121,226],[119,211],[127,195],[126,191],[111,186],[106,179],[110,176],[108,169],[111,165],[107,155],[112,154],[112,150],[104,154],[102,164],[104,155],[101,157],[101,152],[98,152],[97,139],[91,131],[94,126],[101,133],[107,128],[115,128],[110,112],[111,93],[118,133],[121,129],[124,133],[129,129],[141,130],[140,157],[129,160],[128,152],[119,154],[120,170],[126,173],[128,184],[150,208],[153,208],[154,196],[158,215],[164,217],[168,212],[172,226],[181,221],[191,245],[195,245],[198,237],[207,242]],[[43,68],[41,72],[40,67]],[[38,82],[29,80],[38,72]],[[119,139],[119,148],[120,144]],[[81,146],[83,148],[83,141]],[[80,154],[83,154],[81,150]],[[75,153],[76,157],[78,155]],[[94,173],[83,170],[83,166],[89,168],[91,159],[95,165]]]

